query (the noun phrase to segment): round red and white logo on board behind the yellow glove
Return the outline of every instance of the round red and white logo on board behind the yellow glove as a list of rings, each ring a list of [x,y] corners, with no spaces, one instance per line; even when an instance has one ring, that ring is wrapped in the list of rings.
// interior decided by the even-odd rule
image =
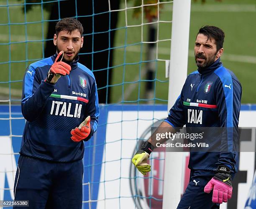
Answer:
[[[157,121],[153,124],[153,127],[158,127],[161,121]],[[148,127],[141,135],[138,144],[136,145],[133,154],[137,152],[142,143],[151,135],[151,126]],[[148,159],[148,164],[151,165],[151,172],[148,172],[144,178],[141,178],[141,173],[136,167],[131,164],[130,167],[130,187],[131,194],[134,199],[136,208],[138,209],[162,209],[163,191],[164,191],[164,158],[165,148],[158,147],[154,149]],[[188,158],[187,158],[188,159]],[[186,160],[188,163],[188,160]],[[184,164],[184,188],[185,191],[189,182],[189,169],[187,169],[187,163]],[[146,197],[146,198],[145,198]]]

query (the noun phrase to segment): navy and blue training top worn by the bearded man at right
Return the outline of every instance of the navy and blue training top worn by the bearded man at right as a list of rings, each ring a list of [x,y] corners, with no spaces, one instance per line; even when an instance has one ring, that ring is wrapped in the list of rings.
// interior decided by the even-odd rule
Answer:
[[[218,165],[238,171],[238,120],[242,87],[234,73],[220,58],[205,69],[188,75],[182,92],[165,122],[173,127],[223,127],[225,132],[212,138],[214,144],[226,144],[220,152],[190,152],[189,169],[215,170]]]

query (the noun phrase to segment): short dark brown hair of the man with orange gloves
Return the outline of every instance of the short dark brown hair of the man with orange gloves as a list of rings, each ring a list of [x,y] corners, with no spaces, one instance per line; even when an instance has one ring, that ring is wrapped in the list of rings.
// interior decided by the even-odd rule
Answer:
[[[69,34],[72,33],[73,30],[79,30],[81,37],[84,32],[84,28],[77,19],[72,18],[72,17],[66,17],[63,18],[62,20],[59,20],[56,24],[56,35],[58,36],[60,31],[67,31]]]

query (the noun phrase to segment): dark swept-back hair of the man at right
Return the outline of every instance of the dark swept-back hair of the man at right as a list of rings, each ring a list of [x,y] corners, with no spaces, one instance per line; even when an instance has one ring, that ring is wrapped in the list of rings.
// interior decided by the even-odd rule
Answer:
[[[207,36],[207,40],[212,40],[212,38],[215,40],[217,51],[223,47],[225,34],[219,27],[205,25],[200,28],[197,35],[200,33]]]

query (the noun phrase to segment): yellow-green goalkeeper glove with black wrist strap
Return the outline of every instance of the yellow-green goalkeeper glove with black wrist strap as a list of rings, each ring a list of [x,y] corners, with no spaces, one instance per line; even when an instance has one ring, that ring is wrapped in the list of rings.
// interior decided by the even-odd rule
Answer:
[[[146,141],[142,144],[141,149],[139,149],[133,156],[132,163],[143,175],[146,175],[151,171],[151,166],[147,161],[153,149],[154,146],[150,142]]]

